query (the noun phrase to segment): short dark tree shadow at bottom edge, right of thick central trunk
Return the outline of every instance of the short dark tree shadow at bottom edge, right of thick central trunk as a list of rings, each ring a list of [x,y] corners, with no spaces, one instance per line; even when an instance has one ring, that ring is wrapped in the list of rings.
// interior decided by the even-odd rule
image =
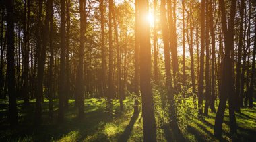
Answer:
[[[164,126],[164,137],[167,141],[187,141],[177,126]]]

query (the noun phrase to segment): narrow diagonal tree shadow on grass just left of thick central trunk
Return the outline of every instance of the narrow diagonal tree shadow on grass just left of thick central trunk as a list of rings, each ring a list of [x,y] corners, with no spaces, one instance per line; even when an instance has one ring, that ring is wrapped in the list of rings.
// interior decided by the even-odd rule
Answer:
[[[129,137],[131,136],[131,132],[133,131],[133,126],[135,122],[137,121],[137,118],[139,117],[139,113],[133,113],[133,116],[131,117],[131,121],[125,127],[125,131],[119,136],[118,141],[128,141]]]

